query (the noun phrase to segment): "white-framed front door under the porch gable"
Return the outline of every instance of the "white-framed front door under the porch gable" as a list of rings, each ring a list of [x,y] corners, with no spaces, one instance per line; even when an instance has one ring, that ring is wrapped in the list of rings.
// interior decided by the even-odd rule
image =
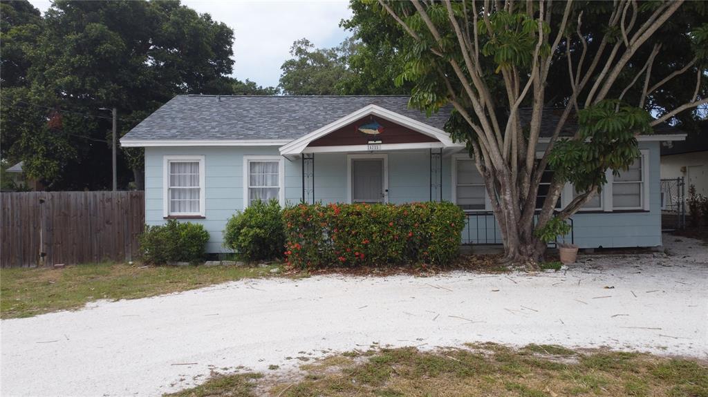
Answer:
[[[350,202],[385,203],[387,201],[386,158],[350,158]]]

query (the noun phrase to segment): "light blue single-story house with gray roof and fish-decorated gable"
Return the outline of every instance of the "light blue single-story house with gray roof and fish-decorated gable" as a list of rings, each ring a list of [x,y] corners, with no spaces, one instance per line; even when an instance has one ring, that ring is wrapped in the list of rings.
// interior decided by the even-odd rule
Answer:
[[[463,243],[501,243],[480,175],[464,145],[443,131],[448,111],[426,117],[408,102],[179,95],[121,144],[145,149],[146,223],[202,223],[210,252],[225,251],[222,230],[236,211],[269,198],[283,205],[453,201],[468,214]],[[539,150],[552,133],[546,124]],[[641,158],[621,177],[607,172],[603,194],[573,215],[573,241],[586,248],[661,246],[659,143],[683,137],[640,136]],[[561,203],[572,197],[567,186]]]

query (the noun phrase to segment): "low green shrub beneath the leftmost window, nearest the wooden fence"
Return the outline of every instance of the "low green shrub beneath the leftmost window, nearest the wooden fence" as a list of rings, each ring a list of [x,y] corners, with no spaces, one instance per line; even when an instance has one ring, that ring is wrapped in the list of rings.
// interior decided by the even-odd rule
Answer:
[[[204,226],[174,219],[165,225],[146,226],[139,237],[142,261],[156,265],[202,261],[208,241],[209,232]]]

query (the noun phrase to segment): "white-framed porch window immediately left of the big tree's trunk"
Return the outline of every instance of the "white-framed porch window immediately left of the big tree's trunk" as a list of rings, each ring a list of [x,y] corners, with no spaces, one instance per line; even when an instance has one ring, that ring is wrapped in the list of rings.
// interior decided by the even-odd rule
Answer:
[[[455,203],[464,211],[484,211],[486,208],[486,188],[484,178],[479,174],[474,160],[455,159]]]

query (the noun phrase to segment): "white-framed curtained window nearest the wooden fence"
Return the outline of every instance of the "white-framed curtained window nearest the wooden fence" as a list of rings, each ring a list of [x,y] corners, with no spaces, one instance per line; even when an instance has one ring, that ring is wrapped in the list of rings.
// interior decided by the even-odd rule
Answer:
[[[204,157],[165,156],[164,215],[204,216]]]

